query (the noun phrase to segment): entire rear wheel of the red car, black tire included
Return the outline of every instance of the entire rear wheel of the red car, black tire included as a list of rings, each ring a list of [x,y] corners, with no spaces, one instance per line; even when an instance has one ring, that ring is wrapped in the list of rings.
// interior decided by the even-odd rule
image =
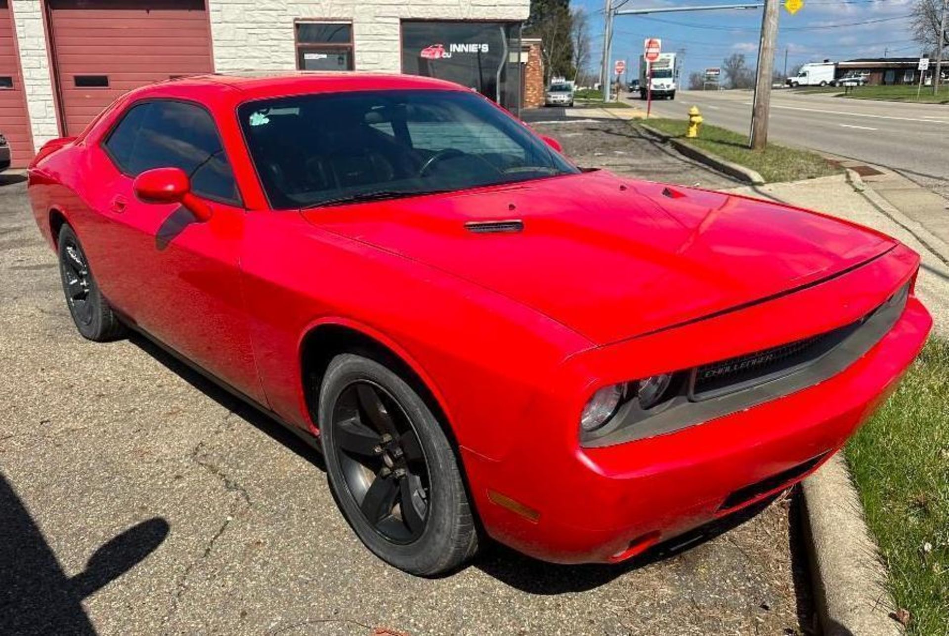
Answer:
[[[60,230],[57,247],[65,302],[76,328],[98,343],[121,338],[125,327],[102,296],[79,237],[68,225]]]

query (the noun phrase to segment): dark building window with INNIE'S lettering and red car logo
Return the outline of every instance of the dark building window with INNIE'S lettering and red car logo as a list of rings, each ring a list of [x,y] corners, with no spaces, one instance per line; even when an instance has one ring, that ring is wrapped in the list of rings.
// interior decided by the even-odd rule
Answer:
[[[521,28],[518,22],[402,21],[402,72],[474,88],[518,112]]]

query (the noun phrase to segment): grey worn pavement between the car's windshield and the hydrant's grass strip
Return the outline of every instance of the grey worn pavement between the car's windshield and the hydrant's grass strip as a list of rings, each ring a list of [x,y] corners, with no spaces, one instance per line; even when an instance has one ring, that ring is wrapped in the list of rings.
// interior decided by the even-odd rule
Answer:
[[[623,120],[535,122],[530,126],[560,141],[564,153],[584,168],[605,168],[620,175],[711,190],[740,185]]]

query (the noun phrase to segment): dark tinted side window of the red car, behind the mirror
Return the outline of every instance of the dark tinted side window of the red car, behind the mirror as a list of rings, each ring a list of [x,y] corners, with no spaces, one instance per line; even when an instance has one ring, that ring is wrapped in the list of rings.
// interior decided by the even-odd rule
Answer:
[[[239,204],[231,165],[211,115],[191,103],[156,101],[131,108],[105,141],[122,172],[181,168],[195,195]]]

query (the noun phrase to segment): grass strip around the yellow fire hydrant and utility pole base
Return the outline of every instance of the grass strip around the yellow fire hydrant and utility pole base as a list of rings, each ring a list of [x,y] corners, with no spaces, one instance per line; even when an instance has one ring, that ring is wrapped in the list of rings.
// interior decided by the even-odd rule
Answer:
[[[685,131],[688,122],[684,119],[657,118],[649,119],[647,123],[667,135],[714,153],[721,159],[751,168],[769,182],[828,177],[841,172],[840,167],[828,163],[827,159],[809,150],[789,148],[776,143],[769,143],[762,151],[751,150],[745,135],[718,126],[702,124],[699,138],[687,140]]]

